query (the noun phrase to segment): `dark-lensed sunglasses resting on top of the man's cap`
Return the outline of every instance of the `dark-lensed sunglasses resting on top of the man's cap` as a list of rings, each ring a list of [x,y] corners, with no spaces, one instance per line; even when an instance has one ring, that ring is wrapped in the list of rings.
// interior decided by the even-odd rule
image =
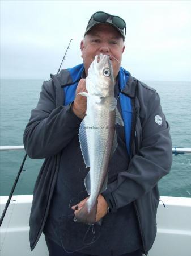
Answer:
[[[120,28],[120,30],[124,30],[126,34],[126,23],[125,20],[121,19],[118,16],[114,16],[108,13],[104,13],[104,11],[97,11],[92,15],[92,17],[96,22],[106,22],[108,19],[112,20],[112,24],[116,27]]]

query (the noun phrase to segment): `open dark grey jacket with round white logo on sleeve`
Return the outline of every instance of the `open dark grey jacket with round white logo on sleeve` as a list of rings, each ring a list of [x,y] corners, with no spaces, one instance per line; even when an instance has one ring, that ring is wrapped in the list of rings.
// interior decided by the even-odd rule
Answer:
[[[29,157],[45,158],[33,193],[31,250],[36,246],[48,216],[61,151],[78,134],[81,122],[69,106],[63,106],[61,85],[71,82],[69,72],[63,70],[43,83],[39,102],[24,131],[23,142]],[[120,172],[103,195],[112,203],[113,209],[134,202],[143,250],[147,255],[156,236],[157,183],[171,168],[172,143],[158,93],[131,76],[122,93],[131,98],[133,108],[130,163],[128,170]],[[157,123],[157,116],[162,117],[162,124]]]

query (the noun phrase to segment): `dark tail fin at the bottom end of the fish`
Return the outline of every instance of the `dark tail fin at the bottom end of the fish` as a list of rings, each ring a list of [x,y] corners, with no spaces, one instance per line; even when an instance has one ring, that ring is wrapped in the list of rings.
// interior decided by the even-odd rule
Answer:
[[[82,222],[88,225],[94,225],[96,221],[97,214],[97,200],[91,209],[89,209],[90,205],[88,204],[88,200],[86,204],[79,210],[79,212],[75,215],[74,221]]]

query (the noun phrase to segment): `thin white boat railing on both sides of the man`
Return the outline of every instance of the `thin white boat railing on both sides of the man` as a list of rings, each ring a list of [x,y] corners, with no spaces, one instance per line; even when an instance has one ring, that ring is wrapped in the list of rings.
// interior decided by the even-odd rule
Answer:
[[[0,151],[13,151],[13,150],[24,150],[24,146],[0,146]],[[172,147],[172,154],[182,155],[191,153],[191,148],[185,147]]]

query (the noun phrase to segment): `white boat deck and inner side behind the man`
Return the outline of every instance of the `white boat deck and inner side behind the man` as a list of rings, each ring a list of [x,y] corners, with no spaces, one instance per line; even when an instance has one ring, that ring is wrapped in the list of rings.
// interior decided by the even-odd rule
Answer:
[[[7,196],[0,197],[2,214]],[[29,212],[32,195],[13,196],[0,229],[1,256],[48,256],[44,235],[35,249],[29,247]],[[161,197],[158,208],[158,234],[148,256],[191,255],[191,198]]]

